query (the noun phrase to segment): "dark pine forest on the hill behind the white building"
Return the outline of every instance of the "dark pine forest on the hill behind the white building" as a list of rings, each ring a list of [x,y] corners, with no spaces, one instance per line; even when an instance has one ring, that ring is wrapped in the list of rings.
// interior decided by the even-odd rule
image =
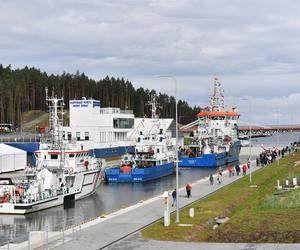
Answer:
[[[175,118],[175,98],[142,87],[135,89],[129,80],[106,76],[95,81],[84,73],[47,74],[36,68],[12,69],[0,64],[0,123],[19,125],[21,114],[30,110],[46,111],[45,88],[69,100],[82,97],[101,101],[102,107],[132,109],[136,117],[151,117],[147,103],[153,95],[161,105],[160,117]],[[187,124],[196,119],[200,107],[178,101],[178,121]]]

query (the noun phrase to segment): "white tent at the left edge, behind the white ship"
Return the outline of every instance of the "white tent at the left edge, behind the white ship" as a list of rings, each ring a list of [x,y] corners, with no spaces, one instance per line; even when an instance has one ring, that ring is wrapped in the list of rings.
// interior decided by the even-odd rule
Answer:
[[[21,170],[26,167],[26,151],[0,144],[0,173]]]

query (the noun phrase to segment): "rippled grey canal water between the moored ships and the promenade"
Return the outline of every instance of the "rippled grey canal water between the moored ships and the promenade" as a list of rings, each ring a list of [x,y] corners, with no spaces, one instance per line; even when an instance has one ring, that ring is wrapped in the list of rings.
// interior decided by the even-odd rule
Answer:
[[[280,133],[271,137],[253,138],[255,147],[287,146],[300,140],[300,132]],[[240,156],[242,162],[247,155]],[[215,169],[180,169],[179,186],[191,183],[214,173]],[[63,227],[90,220],[102,214],[111,213],[172,190],[176,176],[171,175],[146,183],[106,184],[101,183],[97,192],[90,197],[75,202],[74,207],[54,207],[29,215],[0,215],[0,245],[26,240],[29,231],[60,230]]]

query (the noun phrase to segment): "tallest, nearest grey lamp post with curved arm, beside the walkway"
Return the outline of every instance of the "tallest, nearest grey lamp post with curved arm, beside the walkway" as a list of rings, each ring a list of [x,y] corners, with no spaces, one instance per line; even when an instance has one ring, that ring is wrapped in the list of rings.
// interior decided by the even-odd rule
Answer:
[[[169,75],[164,75],[164,76],[159,76],[161,78],[169,78],[171,80],[173,80],[174,82],[174,88],[175,88],[175,125],[176,125],[176,145],[175,145],[175,148],[176,148],[176,160],[175,160],[175,163],[176,163],[176,223],[179,223],[179,202],[178,202],[178,192],[179,192],[179,183],[178,183],[178,111],[177,111],[177,81],[175,79],[175,77],[173,76],[169,76]]]

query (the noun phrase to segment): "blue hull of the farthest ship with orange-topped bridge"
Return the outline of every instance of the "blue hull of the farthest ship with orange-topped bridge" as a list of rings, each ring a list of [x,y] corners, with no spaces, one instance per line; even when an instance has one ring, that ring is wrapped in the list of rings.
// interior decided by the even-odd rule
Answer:
[[[240,141],[236,141],[228,153],[204,154],[201,157],[183,156],[179,158],[178,166],[188,168],[216,168],[219,166],[224,166],[239,161],[240,149]]]

